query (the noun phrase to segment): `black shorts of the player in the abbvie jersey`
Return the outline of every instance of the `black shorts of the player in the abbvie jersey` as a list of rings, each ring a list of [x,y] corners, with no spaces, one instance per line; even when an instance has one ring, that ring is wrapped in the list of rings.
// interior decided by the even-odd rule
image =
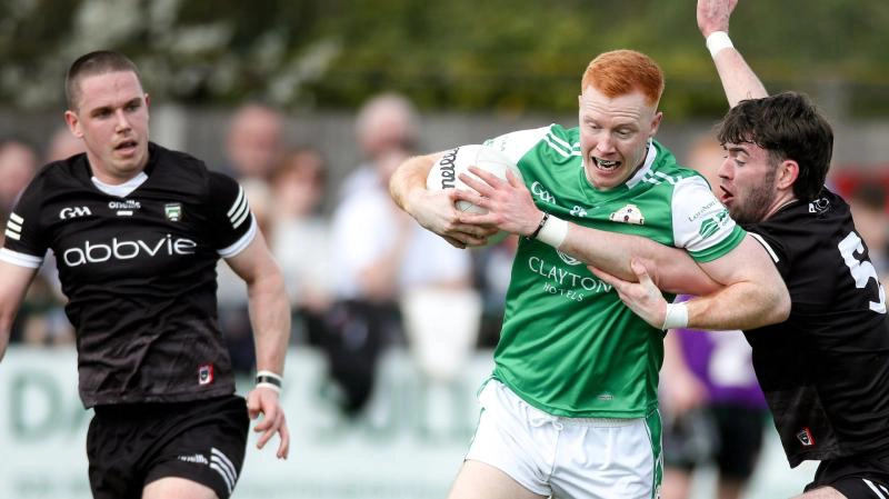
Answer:
[[[227,499],[241,471],[250,420],[242,397],[99,406],[87,433],[96,499],[139,499],[146,485],[179,477]]]

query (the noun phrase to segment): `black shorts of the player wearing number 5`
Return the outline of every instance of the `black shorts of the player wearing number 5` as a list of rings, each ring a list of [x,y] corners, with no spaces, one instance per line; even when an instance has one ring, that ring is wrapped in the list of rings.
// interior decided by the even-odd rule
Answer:
[[[889,498],[889,452],[823,460],[806,491],[819,487],[832,487],[848,499]]]

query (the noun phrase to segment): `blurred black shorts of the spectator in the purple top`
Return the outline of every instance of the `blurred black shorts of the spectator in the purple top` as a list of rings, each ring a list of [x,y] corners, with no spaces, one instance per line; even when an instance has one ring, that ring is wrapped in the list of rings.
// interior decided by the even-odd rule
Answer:
[[[730,403],[705,406],[665,420],[665,466],[691,472],[715,462],[721,477],[746,481],[756,468],[767,421],[767,409]]]

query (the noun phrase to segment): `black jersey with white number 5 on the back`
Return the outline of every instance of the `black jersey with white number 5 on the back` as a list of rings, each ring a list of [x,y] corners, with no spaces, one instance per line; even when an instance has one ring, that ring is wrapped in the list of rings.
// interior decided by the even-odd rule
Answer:
[[[849,206],[825,189],[745,229],[792,302],[787,321],[745,331],[790,466],[889,452],[886,296]]]

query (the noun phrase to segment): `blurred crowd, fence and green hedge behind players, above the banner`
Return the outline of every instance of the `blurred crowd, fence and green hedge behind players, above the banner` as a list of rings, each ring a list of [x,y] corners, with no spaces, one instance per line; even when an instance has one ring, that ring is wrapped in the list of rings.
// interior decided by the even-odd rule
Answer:
[[[835,126],[830,184],[886,276],[889,3],[741,3],[732,40],[767,88],[809,93]],[[400,161],[576,123],[582,70],[616,48],[665,69],[658,139],[680,160],[696,162],[726,109],[693,0],[0,0],[3,223],[42,164],[81,151],[62,82],[100,48],[140,67],[152,140],[244,187],[287,279],[292,343],[323,355],[350,418],[388,349],[447,381],[496,345],[503,311],[515,237],[461,251],[421,230],[388,197]],[[54,273],[50,258],[13,343],[72,348]],[[219,275],[220,323],[246,376],[244,288],[224,265]]]

